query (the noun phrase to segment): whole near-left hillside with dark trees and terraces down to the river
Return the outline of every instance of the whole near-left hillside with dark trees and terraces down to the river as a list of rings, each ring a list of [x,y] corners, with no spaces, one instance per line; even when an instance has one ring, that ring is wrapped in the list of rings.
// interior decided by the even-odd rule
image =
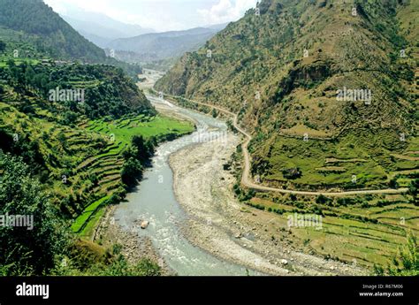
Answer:
[[[86,241],[93,236],[105,208],[123,200],[127,190],[141,179],[158,142],[190,133],[194,126],[156,115],[133,80],[113,66],[57,66],[11,58],[6,64],[0,67],[1,214],[31,213],[34,208],[30,204],[38,204],[36,209],[48,210],[38,217],[45,222],[48,218],[54,225],[44,235],[27,237],[21,228],[1,229],[1,247],[11,255],[0,258],[0,274],[106,273],[114,268],[118,253],[109,260],[113,257],[109,250]],[[65,95],[65,100],[51,100],[50,90],[57,88],[83,89],[84,99],[67,100]],[[30,179],[36,190],[19,190],[25,187],[19,179]],[[47,199],[31,203],[38,200],[33,193]],[[73,237],[66,235],[70,232],[83,240],[74,243]],[[26,240],[22,246],[28,253],[25,259],[12,250],[20,238]],[[27,240],[38,238],[51,243],[42,254],[43,261],[38,260],[36,243],[27,245]],[[69,254],[70,249],[74,253]],[[80,251],[84,253],[81,257]],[[91,258],[94,254],[97,257]],[[75,264],[98,266],[57,271],[57,255],[65,255]],[[143,271],[141,267],[132,274]],[[121,275],[131,274],[123,272]]]

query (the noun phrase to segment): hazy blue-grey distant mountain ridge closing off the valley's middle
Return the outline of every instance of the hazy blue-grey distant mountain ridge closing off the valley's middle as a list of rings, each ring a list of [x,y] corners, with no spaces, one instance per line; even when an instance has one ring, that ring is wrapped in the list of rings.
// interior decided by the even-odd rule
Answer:
[[[217,32],[216,28],[195,27],[186,31],[142,34],[115,40],[107,47],[116,51],[134,52],[142,61],[157,61],[198,50]]]

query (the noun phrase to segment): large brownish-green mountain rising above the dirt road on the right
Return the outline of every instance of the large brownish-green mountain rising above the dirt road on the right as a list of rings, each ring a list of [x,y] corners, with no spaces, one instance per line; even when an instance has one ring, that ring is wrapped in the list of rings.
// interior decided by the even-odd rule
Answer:
[[[264,0],[260,14],[249,10],[181,57],[156,89],[238,112],[263,184],[386,187],[418,167],[418,9]]]

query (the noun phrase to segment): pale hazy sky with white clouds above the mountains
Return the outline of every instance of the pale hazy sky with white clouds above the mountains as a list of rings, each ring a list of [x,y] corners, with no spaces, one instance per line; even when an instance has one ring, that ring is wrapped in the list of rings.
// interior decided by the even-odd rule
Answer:
[[[81,9],[156,31],[215,25],[240,19],[257,0],[44,0],[54,11]]]

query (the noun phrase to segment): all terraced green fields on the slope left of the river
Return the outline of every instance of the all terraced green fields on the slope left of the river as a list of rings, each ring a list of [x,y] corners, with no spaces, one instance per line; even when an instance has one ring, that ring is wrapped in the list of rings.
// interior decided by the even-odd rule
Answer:
[[[103,208],[114,201],[112,195],[125,192],[120,175],[124,163],[121,153],[133,135],[164,141],[194,130],[194,125],[186,120],[142,114],[106,121],[83,118],[79,128],[75,128],[57,124],[57,114],[44,109],[42,101],[36,98],[20,101],[7,93],[3,98],[8,103],[0,102],[0,112],[4,114],[0,127],[17,135],[17,147],[38,143],[50,172],[43,179],[57,194],[55,203],[65,214],[72,215],[72,231],[87,238]],[[23,104],[30,107],[30,116],[18,111]]]

